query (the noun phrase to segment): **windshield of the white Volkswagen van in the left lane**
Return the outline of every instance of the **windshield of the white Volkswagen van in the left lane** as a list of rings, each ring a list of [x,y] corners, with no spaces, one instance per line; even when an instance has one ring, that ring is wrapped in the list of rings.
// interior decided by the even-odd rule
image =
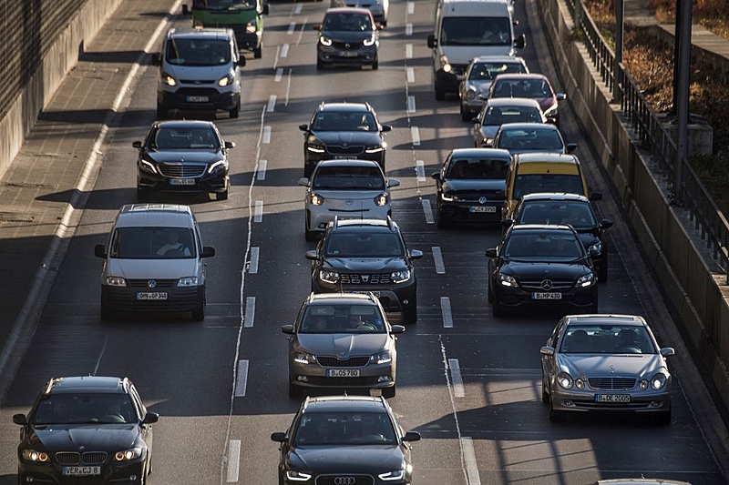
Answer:
[[[118,227],[109,248],[109,257],[119,259],[184,259],[196,253],[186,227]]]

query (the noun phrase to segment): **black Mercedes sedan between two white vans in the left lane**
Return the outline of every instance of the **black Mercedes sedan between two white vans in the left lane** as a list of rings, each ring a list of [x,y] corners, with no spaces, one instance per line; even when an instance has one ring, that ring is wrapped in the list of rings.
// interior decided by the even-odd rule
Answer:
[[[228,150],[235,147],[223,141],[211,121],[155,121],[145,140],[135,141],[137,196],[147,192],[214,193],[217,200],[228,198]]]

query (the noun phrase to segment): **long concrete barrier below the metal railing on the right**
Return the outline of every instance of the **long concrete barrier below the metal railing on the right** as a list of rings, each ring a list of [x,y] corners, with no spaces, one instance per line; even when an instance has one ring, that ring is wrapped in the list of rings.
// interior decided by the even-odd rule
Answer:
[[[681,207],[671,206],[667,179],[652,171],[649,153],[636,146],[620,106],[596,76],[569,12],[559,0],[537,2],[557,56],[557,69],[580,124],[621,196],[629,223],[659,283],[680,316],[687,347],[708,369],[729,408],[729,288],[725,276],[704,262],[705,241]]]

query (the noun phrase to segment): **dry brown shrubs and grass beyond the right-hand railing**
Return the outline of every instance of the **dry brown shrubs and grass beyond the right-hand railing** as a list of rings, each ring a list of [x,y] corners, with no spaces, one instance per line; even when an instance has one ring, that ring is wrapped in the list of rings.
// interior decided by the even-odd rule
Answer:
[[[656,16],[673,22],[675,0],[649,2],[656,9]],[[588,0],[586,5],[602,35],[611,39],[615,32],[613,1]],[[729,0],[693,1],[693,22],[729,39],[727,13]],[[673,45],[661,45],[644,29],[626,26],[623,62],[655,111],[662,113],[673,108]],[[729,215],[729,89],[712,69],[691,67],[689,110],[703,116],[714,128],[714,155],[691,157],[690,163],[724,215]]]

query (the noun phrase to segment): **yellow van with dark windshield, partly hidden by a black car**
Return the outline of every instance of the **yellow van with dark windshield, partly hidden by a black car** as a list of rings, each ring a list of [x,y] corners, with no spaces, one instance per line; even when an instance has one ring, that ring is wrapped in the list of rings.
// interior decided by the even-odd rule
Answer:
[[[574,154],[519,153],[507,170],[501,217],[507,218],[525,194],[560,192],[600,200],[601,192],[590,194],[580,159]]]

